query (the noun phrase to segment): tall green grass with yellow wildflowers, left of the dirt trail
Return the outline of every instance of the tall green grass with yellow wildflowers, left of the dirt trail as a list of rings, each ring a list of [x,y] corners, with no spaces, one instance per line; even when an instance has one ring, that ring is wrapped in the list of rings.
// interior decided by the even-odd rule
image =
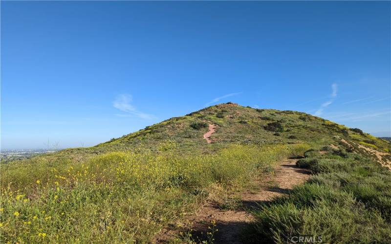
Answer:
[[[231,145],[181,155],[165,143],[85,163],[44,158],[2,165],[2,242],[151,242],[165,225],[195,209],[214,188],[243,185],[305,144]],[[221,188],[221,187],[220,187]]]

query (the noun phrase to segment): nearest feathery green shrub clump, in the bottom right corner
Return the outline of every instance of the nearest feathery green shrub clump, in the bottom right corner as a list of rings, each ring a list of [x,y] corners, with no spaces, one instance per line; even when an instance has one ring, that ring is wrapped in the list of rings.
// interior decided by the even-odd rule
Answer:
[[[381,216],[360,204],[339,206],[320,200],[309,208],[290,202],[264,205],[255,218],[256,239],[262,243],[292,243],[292,237],[299,236],[324,243],[388,243],[391,236]]]

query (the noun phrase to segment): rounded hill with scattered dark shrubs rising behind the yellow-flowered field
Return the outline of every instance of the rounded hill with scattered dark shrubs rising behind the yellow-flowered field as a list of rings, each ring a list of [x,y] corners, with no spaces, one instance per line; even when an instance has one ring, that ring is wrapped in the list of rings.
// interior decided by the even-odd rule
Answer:
[[[210,137],[211,145],[203,138],[208,131],[208,123],[217,125],[216,132]],[[195,148],[210,151],[231,143],[337,145],[342,143],[341,139],[355,142],[351,143],[355,149],[367,154],[370,153],[360,149],[359,145],[385,153],[391,151],[390,142],[306,113],[255,109],[228,102],[174,117],[93,147],[66,149],[57,156],[70,156],[82,161],[88,156],[108,151],[128,151],[137,147],[157,150],[158,144],[167,140],[179,144],[180,150],[186,152]]]

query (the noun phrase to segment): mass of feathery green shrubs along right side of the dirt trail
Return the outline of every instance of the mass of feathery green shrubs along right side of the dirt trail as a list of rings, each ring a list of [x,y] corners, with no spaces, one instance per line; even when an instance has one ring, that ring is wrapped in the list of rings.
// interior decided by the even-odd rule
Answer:
[[[261,205],[253,235],[276,243],[299,236],[326,243],[389,243],[391,172],[340,150],[308,156],[297,165],[314,176],[288,196]]]

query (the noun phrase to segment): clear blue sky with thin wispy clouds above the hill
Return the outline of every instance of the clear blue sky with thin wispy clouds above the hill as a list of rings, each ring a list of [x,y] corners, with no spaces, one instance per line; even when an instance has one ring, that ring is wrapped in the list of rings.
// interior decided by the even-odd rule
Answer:
[[[390,136],[390,1],[1,1],[1,145],[95,145],[219,102]]]

